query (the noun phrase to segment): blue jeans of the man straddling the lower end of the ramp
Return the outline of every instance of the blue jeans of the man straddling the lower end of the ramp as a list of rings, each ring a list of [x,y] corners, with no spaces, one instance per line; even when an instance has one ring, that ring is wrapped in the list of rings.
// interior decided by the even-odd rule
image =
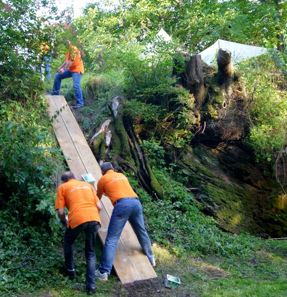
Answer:
[[[110,274],[118,240],[127,221],[132,225],[141,247],[148,260],[153,262],[150,239],[144,227],[143,208],[139,199],[134,197],[121,198],[116,201],[108,226],[107,237],[103,246],[103,255],[99,265],[101,273]]]

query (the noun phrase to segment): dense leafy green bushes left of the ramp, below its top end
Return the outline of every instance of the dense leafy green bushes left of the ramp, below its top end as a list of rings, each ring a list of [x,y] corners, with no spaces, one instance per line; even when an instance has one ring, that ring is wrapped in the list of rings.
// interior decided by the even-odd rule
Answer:
[[[61,151],[55,148],[39,98],[25,107],[0,105],[0,294],[33,292],[58,283],[61,250],[54,210]],[[49,247],[49,248],[47,248]]]

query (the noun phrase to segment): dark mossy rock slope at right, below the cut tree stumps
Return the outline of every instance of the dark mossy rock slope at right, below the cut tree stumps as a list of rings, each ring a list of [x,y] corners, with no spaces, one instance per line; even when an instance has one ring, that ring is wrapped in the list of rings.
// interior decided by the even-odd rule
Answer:
[[[188,188],[204,211],[232,233],[284,237],[287,206],[276,190],[276,180],[265,179],[260,164],[235,145],[188,147],[177,163]],[[267,170],[267,169],[266,169]],[[269,175],[268,175],[269,176]],[[272,185],[272,187],[270,187]]]

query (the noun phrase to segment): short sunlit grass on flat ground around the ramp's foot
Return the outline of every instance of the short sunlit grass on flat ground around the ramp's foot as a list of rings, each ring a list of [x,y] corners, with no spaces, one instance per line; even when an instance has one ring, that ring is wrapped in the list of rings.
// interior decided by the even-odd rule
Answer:
[[[271,245],[262,242],[266,250],[254,251],[253,257],[198,257],[196,253],[176,256],[174,251],[154,244],[153,250],[157,259],[155,271],[157,282],[164,279],[165,274],[172,274],[180,278],[180,294],[198,294],[202,297],[284,297],[287,292],[286,258],[284,252],[286,244],[277,242],[279,253]],[[78,243],[80,244],[80,243]],[[285,250],[286,251],[286,250]],[[101,247],[97,245],[97,258],[100,258]],[[77,253],[81,257],[81,252]],[[68,281],[61,278],[59,286],[54,286],[42,293],[54,297],[86,296],[85,295],[85,265],[84,261],[77,260],[80,275],[77,281]],[[80,267],[79,267],[80,265]],[[97,296],[130,296],[115,275],[109,277],[108,282],[96,281]],[[164,282],[159,283],[161,291],[166,296],[173,295],[173,291],[165,288]],[[150,288],[152,295],[152,288]],[[38,293],[40,294],[40,292]],[[134,288],[134,296],[137,295]],[[171,294],[171,295],[170,295]],[[36,296],[36,295],[33,295]],[[39,295],[40,296],[40,295]],[[188,295],[183,295],[188,296]]]

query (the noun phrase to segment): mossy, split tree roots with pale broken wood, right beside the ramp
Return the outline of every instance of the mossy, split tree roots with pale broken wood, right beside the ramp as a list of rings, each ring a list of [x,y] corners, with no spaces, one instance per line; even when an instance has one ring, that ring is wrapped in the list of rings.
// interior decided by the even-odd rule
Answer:
[[[162,187],[154,177],[141,147],[142,141],[130,117],[124,114],[123,102],[124,98],[120,96],[112,99],[112,119],[101,125],[90,145],[99,164],[109,161],[115,167],[132,170],[146,191],[163,198]]]

